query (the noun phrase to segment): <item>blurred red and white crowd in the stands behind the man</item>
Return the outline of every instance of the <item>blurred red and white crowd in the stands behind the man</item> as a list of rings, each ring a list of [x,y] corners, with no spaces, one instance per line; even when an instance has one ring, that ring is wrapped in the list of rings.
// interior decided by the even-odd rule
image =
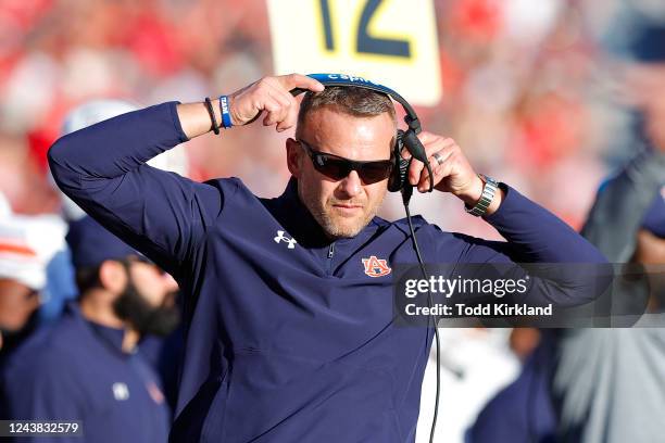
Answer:
[[[635,16],[662,16],[658,2],[435,3],[444,92],[438,106],[417,109],[424,127],[455,138],[477,169],[579,228],[602,176],[629,156],[630,114],[617,85],[643,26]],[[272,73],[261,0],[7,0],[0,23],[0,189],[18,213],[58,211],[45,153],[75,105],[195,101]],[[196,140],[186,148],[190,176],[236,175],[274,194],[288,179],[287,136],[253,127]],[[468,229],[460,211],[432,205],[418,208],[442,227]]]

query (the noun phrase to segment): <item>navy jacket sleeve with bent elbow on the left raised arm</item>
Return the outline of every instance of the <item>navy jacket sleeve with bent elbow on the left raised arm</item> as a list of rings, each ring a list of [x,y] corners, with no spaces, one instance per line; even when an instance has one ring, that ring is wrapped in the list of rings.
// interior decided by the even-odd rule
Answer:
[[[60,189],[102,226],[176,276],[224,207],[224,188],[146,164],[187,141],[177,102],[130,112],[60,138],[49,150]],[[229,180],[230,181],[230,180]]]

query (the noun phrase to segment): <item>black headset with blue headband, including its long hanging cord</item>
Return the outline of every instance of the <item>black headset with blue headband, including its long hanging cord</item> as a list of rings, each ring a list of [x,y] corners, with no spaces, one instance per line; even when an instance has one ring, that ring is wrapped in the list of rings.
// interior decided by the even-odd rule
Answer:
[[[374,81],[366,80],[362,77],[353,77],[346,74],[309,74],[308,77],[312,77],[315,80],[318,80],[324,86],[354,86],[357,88],[371,89],[376,92],[385,93],[388,97],[392,98],[396,102],[400,103],[404,109],[406,115],[404,116],[404,122],[409,129],[402,130],[398,129],[397,140],[392,148],[391,160],[393,161],[392,172],[390,173],[390,178],[388,179],[388,190],[391,192],[401,191],[402,192],[402,202],[404,203],[404,211],[406,212],[406,220],[409,223],[409,230],[411,232],[411,239],[413,242],[413,248],[415,250],[416,257],[418,260],[418,265],[421,266],[421,271],[423,273],[423,277],[425,280],[429,280],[429,276],[427,274],[427,269],[425,268],[425,264],[423,263],[423,257],[421,256],[421,250],[418,248],[418,242],[416,241],[415,230],[413,229],[413,223],[411,221],[411,212],[409,211],[409,202],[411,200],[411,195],[413,193],[413,186],[409,182],[409,165],[411,164],[412,159],[419,160],[425,164],[427,168],[427,173],[429,174],[429,192],[434,190],[434,174],[431,173],[431,166],[429,165],[429,160],[427,159],[427,153],[425,152],[425,148],[423,143],[418,139],[417,135],[421,132],[421,121],[416,115],[415,111],[402,96],[397,93],[390,88],[387,88],[382,85],[375,84]],[[293,97],[301,94],[302,92],[306,92],[306,89],[296,88],[291,90],[291,94]],[[411,159],[402,157],[402,150],[406,149],[409,153],[411,153]],[[428,293],[428,303],[431,307],[431,293]],[[436,346],[437,346],[437,394],[435,402],[435,412],[434,418],[431,421],[431,429],[429,431],[429,442],[434,442],[435,429],[437,426],[437,416],[439,413],[439,397],[440,397],[440,389],[441,389],[441,380],[440,380],[440,368],[441,368],[441,357],[440,357],[440,347],[441,344],[439,342],[439,329],[437,328],[437,321],[435,320],[435,338],[436,338]]]

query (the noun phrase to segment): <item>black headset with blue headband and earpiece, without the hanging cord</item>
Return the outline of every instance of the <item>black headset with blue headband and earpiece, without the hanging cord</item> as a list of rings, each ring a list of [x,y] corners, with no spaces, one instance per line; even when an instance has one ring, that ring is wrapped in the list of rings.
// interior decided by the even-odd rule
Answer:
[[[353,77],[346,74],[309,74],[308,77],[314,78],[324,86],[351,86],[369,89],[376,92],[385,93],[392,98],[392,100],[396,102],[400,103],[406,113],[404,116],[404,123],[406,123],[409,129],[398,129],[396,143],[392,148],[390,157],[390,160],[393,161],[393,166],[392,173],[390,174],[390,178],[388,180],[388,190],[391,192],[403,191],[409,194],[409,198],[411,198],[412,187],[409,183],[407,177],[411,159],[402,157],[403,149],[406,149],[412,159],[419,160],[425,164],[430,178],[429,192],[434,190],[434,174],[431,173],[431,166],[429,165],[425,148],[417,137],[417,135],[421,132],[421,121],[418,119],[418,116],[411,104],[409,104],[409,102],[404,100],[402,96],[386,86],[375,84],[374,81],[362,77]],[[296,88],[291,90],[291,94],[297,97],[306,91],[306,89]]]

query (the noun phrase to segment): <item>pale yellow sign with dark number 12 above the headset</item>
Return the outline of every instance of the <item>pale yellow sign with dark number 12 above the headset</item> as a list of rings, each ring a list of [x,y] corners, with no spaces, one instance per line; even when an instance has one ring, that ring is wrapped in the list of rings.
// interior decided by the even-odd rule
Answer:
[[[434,0],[267,0],[276,74],[344,73],[436,105]]]

